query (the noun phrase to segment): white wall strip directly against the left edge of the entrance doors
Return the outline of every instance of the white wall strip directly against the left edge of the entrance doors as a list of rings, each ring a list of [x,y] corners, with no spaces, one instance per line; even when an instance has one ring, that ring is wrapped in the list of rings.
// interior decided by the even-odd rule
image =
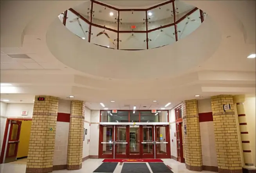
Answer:
[[[91,129],[90,129],[90,151],[89,155],[99,154],[99,110],[91,111]]]

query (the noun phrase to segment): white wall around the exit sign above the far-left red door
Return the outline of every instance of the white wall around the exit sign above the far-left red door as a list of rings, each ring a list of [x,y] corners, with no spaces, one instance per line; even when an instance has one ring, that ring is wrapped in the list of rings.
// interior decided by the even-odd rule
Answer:
[[[32,118],[33,115],[33,103],[8,103],[5,113],[5,117],[24,117]],[[21,115],[22,111],[28,111],[26,116]]]

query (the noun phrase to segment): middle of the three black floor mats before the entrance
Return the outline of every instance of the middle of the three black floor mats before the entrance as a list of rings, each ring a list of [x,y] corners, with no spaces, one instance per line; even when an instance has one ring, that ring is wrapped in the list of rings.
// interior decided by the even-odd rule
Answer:
[[[146,163],[124,163],[121,173],[150,173]]]

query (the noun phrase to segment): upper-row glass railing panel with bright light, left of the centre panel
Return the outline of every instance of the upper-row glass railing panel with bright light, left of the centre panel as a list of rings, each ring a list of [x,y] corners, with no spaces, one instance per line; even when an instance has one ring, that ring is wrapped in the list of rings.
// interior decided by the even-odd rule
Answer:
[[[92,16],[92,23],[117,30],[117,11],[95,3],[93,4],[92,11],[94,11],[94,15]]]

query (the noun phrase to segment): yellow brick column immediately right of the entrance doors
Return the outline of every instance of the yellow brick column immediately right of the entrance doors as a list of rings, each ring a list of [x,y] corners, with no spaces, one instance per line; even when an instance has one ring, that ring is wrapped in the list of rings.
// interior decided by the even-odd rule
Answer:
[[[202,171],[202,148],[197,100],[187,100],[182,103],[186,168],[193,171]]]

